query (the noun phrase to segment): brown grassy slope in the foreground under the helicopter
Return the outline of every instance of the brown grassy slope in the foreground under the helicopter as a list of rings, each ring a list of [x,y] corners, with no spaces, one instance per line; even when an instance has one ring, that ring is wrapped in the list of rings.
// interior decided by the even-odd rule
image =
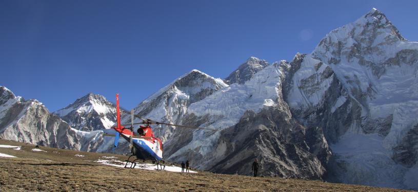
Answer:
[[[22,150],[0,148],[0,191],[402,191],[362,185],[334,184],[282,178],[199,172],[119,168],[97,164],[102,156],[126,156],[41,147],[0,140],[0,144],[22,145]],[[53,152],[56,151],[56,152]],[[85,157],[74,157],[75,154]]]

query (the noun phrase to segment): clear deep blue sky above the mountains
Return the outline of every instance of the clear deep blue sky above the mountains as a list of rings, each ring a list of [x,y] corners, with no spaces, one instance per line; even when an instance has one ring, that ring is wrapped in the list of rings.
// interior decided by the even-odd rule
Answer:
[[[418,1],[0,1],[0,85],[51,111],[93,92],[135,107],[192,69],[310,53],[373,7],[418,41]]]

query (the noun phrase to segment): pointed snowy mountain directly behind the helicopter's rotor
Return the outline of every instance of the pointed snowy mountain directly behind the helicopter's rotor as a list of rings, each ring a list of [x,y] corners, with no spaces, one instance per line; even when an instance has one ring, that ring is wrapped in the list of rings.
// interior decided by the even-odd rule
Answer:
[[[201,71],[192,70],[152,94],[135,107],[134,111],[135,114],[143,118],[178,124],[190,104],[227,86],[221,79],[215,79]],[[122,122],[129,124],[130,121],[129,114],[125,113]],[[140,120],[135,121],[141,122]],[[174,129],[174,127],[160,126],[154,129],[154,132],[165,142],[170,138]]]

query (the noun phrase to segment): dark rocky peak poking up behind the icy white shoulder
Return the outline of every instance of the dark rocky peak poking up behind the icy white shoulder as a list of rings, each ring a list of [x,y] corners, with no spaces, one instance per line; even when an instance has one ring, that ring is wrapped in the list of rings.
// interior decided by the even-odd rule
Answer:
[[[228,85],[233,83],[244,84],[246,81],[250,80],[256,72],[264,69],[268,65],[269,63],[266,60],[260,60],[252,56],[229,74],[229,76],[225,78],[225,82]]]

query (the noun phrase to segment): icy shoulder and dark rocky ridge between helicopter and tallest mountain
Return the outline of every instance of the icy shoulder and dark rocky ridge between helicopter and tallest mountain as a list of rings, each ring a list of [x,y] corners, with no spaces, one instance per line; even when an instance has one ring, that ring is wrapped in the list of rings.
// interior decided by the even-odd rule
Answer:
[[[274,63],[244,84],[234,83],[192,103],[180,123],[217,131],[175,129],[165,142],[166,159],[250,175],[258,158],[265,176],[321,179],[331,152],[322,129],[298,124],[283,101],[287,65]]]

